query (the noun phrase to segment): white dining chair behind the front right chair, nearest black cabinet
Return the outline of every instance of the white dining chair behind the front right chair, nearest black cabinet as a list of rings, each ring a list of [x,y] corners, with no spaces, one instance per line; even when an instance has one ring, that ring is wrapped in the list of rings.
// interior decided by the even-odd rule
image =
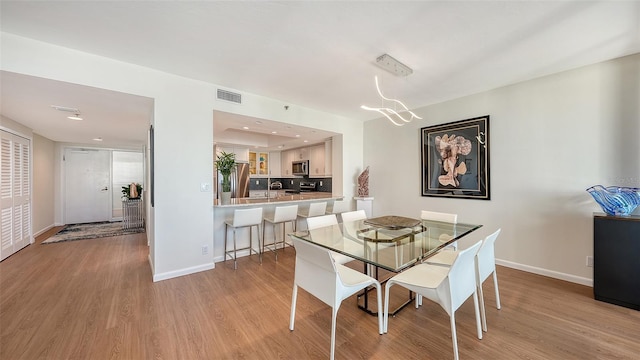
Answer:
[[[500,291],[498,290],[498,275],[496,273],[495,243],[502,229],[496,230],[493,234],[482,240],[480,250],[476,254],[476,286],[480,296],[480,315],[482,316],[482,330],[487,331],[487,314],[484,306],[484,291],[482,284],[493,274],[493,288],[496,292],[496,309],[500,310]],[[427,259],[426,263],[433,265],[451,266],[455,261],[458,251],[441,251]],[[435,259],[433,259],[435,258]],[[433,260],[434,262],[432,262]]]

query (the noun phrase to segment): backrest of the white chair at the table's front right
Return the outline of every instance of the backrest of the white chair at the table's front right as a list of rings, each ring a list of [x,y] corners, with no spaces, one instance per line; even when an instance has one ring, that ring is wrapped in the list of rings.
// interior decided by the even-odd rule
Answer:
[[[449,270],[447,281],[443,281],[443,285],[448,289],[438,289],[450,294],[450,301],[442,303],[449,316],[476,291],[475,256],[481,244],[482,242],[478,241],[458,252],[458,256]]]

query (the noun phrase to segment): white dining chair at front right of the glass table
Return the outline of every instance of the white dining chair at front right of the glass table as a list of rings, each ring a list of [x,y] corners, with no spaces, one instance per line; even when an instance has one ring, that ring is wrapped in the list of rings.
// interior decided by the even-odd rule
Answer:
[[[458,360],[455,312],[469,297],[473,297],[476,330],[478,339],[482,339],[475,275],[475,255],[480,245],[481,242],[478,241],[459,251],[451,267],[418,264],[389,279],[385,285],[384,332],[389,328],[389,290],[394,285],[400,285],[439,304],[449,315],[454,359]]]

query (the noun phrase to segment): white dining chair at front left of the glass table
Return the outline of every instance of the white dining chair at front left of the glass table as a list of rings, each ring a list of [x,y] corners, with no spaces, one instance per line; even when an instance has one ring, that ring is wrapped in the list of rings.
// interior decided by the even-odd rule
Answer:
[[[382,335],[382,296],[378,280],[337,264],[328,249],[292,237],[296,249],[296,265],[291,295],[289,330],[293,331],[298,287],[331,306],[331,356],[335,358],[336,319],[342,301],[368,286],[375,286],[378,298],[378,333]]]

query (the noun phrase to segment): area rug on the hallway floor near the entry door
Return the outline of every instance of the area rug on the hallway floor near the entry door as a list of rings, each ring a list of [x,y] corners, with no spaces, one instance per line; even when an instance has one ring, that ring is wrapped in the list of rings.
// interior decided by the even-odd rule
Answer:
[[[122,222],[72,224],[67,225],[60,232],[43,241],[42,244],[51,244],[61,241],[97,239],[141,232],[144,232],[144,227],[125,230],[122,228]]]

